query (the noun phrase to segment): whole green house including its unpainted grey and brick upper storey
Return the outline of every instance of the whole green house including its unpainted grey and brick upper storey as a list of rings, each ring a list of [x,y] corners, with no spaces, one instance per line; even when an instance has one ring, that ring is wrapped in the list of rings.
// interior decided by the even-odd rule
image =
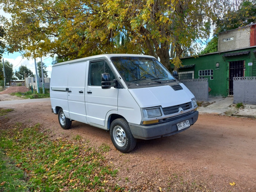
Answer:
[[[233,95],[233,77],[256,76],[255,28],[253,24],[219,33],[218,52],[182,58],[179,79],[207,78],[209,96]]]

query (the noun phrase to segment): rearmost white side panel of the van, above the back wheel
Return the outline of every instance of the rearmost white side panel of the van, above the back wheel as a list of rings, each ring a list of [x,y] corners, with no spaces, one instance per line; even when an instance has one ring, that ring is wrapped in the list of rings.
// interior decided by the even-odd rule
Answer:
[[[57,113],[56,107],[60,107],[65,116],[70,118],[66,88],[68,88],[68,66],[53,67],[50,89],[52,109],[54,113]]]

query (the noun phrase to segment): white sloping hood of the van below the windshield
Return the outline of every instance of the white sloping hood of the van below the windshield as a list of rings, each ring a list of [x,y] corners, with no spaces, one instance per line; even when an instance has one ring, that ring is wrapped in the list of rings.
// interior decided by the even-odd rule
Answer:
[[[140,108],[150,108],[154,106],[168,106],[190,102],[195,96],[184,86],[179,83],[182,90],[175,91],[172,87],[158,86],[150,88],[129,89]]]

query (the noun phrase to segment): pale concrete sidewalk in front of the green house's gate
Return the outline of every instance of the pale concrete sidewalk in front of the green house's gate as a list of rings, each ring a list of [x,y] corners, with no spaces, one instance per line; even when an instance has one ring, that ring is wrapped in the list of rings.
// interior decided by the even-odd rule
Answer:
[[[233,97],[212,97],[208,102],[199,102],[199,113],[211,113],[256,119],[256,105],[244,104],[244,108],[237,109],[233,104]]]

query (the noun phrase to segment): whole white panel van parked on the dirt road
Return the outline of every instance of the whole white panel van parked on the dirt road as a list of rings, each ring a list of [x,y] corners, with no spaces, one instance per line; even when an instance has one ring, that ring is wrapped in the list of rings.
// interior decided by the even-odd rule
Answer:
[[[136,139],[180,133],[198,119],[195,96],[152,56],[107,54],[57,63],[51,75],[52,111],[110,131],[120,152]]]

